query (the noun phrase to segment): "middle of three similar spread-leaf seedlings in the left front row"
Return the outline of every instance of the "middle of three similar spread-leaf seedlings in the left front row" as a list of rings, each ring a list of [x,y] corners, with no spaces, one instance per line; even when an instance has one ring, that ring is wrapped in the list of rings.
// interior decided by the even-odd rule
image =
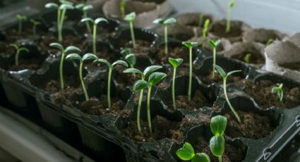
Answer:
[[[88,61],[88,60],[95,60],[97,59],[97,56],[95,56],[95,54],[85,54],[82,58],[81,56],[79,56],[79,54],[69,54],[68,56],[66,56],[66,60],[79,60],[80,61],[80,65],[79,65],[79,79],[81,82],[81,86],[83,87],[83,93],[85,94],[85,101],[89,100],[88,97],[88,92],[85,88],[85,82],[83,81],[83,62],[84,61]]]

